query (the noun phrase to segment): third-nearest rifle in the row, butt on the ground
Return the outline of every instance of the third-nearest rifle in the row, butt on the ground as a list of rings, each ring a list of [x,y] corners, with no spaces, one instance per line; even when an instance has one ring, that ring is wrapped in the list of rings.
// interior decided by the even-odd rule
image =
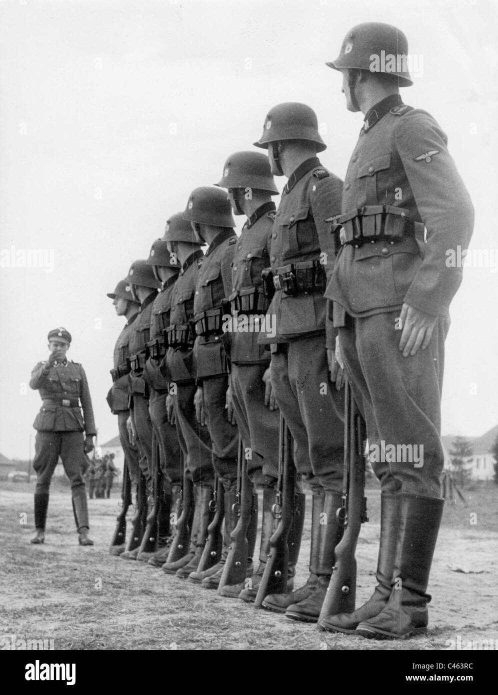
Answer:
[[[240,499],[235,502],[239,507],[239,519],[234,530],[230,534],[231,546],[229,555],[223,568],[222,578],[219,580],[218,594],[221,594],[223,587],[228,584],[240,584],[247,576],[247,553],[249,543],[247,543],[247,528],[251,519],[251,512],[254,505],[252,483],[247,475],[247,459],[244,457],[244,444],[242,437],[239,437],[238,469],[240,475]],[[235,510],[234,510],[235,511]]]

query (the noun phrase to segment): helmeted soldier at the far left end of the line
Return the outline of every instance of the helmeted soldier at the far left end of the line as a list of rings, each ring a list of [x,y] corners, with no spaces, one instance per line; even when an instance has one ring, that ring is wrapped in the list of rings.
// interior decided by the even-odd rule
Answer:
[[[128,374],[130,366],[127,362],[130,357],[128,343],[130,340],[133,321],[138,316],[140,304],[133,299],[130,286],[126,280],[120,280],[115,291],[107,295],[113,300],[117,316],[124,316],[126,324],[117,338],[114,348],[114,367],[110,374],[113,377],[113,386],[107,395],[107,402],[113,413],[117,414],[117,427],[119,441],[121,442],[124,459],[126,461],[127,475],[130,477],[131,488],[136,489],[138,484],[138,449],[132,445],[126,429],[126,422],[130,416],[130,383]],[[111,546],[111,555],[121,555],[126,548],[126,543]]]

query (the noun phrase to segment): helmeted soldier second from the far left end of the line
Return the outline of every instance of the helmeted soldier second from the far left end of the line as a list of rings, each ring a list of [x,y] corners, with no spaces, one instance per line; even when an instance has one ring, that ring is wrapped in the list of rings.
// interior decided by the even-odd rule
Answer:
[[[130,352],[131,373],[130,417],[128,418],[128,433],[135,440],[140,452],[138,465],[144,475],[147,487],[149,505],[152,504],[152,424],[149,416],[149,387],[143,378],[145,362],[147,361],[147,343],[151,327],[152,304],[156,299],[160,282],[156,280],[147,261],[139,260],[131,264],[126,277],[131,294],[140,302],[140,311],[133,321],[128,343]],[[125,550],[119,557],[137,559],[140,546],[133,550]]]

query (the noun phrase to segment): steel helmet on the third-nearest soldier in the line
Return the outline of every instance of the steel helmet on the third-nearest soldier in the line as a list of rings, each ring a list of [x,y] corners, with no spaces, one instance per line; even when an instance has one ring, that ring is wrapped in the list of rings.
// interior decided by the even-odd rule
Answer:
[[[269,169],[268,158],[263,152],[234,152],[223,167],[222,188],[254,188],[266,190],[271,195],[279,193]]]

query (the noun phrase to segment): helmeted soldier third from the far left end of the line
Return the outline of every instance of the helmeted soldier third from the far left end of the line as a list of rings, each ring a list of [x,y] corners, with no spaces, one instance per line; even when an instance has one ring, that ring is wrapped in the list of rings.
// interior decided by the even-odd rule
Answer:
[[[180,445],[176,427],[174,423],[169,423],[167,418],[166,401],[172,396],[168,395],[168,383],[160,373],[159,363],[166,353],[164,335],[169,326],[171,297],[180,264],[174,256],[170,256],[167,242],[163,239],[157,239],[153,243],[147,263],[151,265],[153,274],[162,287],[152,304],[150,340],[147,343],[149,357],[145,363],[143,376],[149,385],[149,414],[153,431],[156,433],[161,473],[158,476],[160,479],[158,483],[162,484],[163,489],[157,494],[157,498],[161,498],[156,509],[158,548],[156,551],[140,550],[137,559],[148,562],[154,555],[156,560],[163,559],[164,563],[171,543],[169,514],[177,506],[181,472]]]

